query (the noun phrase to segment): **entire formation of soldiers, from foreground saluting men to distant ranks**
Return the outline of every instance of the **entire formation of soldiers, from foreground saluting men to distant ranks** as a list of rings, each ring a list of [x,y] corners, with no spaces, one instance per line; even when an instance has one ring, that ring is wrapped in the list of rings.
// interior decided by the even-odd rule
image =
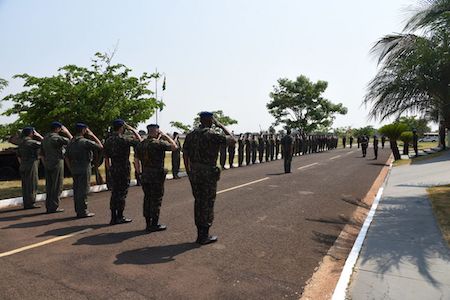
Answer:
[[[144,192],[143,215],[147,232],[162,231],[166,225],[159,222],[161,204],[164,196],[164,182],[168,170],[165,169],[166,151],[172,152],[172,173],[179,179],[181,152],[192,194],[194,196],[194,215],[197,227],[196,242],[205,245],[217,241],[210,235],[209,228],[214,220],[214,202],[217,182],[221,170],[225,169],[227,157],[229,167],[236,167],[234,159],[237,150],[237,167],[284,159],[285,173],[291,172],[294,156],[332,150],[338,146],[334,135],[286,134],[240,134],[235,137],[225,126],[219,123],[211,112],[201,112],[200,126],[186,135],[183,147],[179,135],[169,136],[159,129],[157,124],[147,126],[147,137],[143,139],[139,132],[117,119],[112,122],[112,132],[104,144],[84,123],[75,125],[75,135],[60,122],[50,124],[50,132],[40,135],[32,127],[22,130],[22,139],[17,149],[22,178],[22,195],[25,209],[36,205],[39,158],[45,168],[46,210],[47,213],[59,213],[60,195],[63,188],[64,161],[73,178],[73,199],[78,218],[93,217],[88,211],[88,192],[94,152],[103,152],[108,188],[111,190],[111,225],[129,223],[132,220],[124,216],[126,197],[130,186],[130,153],[134,149],[134,166],[138,185]],[[215,128],[213,129],[213,125]],[[217,132],[217,128],[221,130]],[[131,134],[125,134],[128,131]],[[342,140],[346,147],[346,137]],[[385,139],[381,139],[384,147]],[[363,156],[367,154],[369,139],[357,138]],[[375,159],[378,155],[378,138],[374,137]],[[350,147],[353,137],[350,137]],[[228,155],[227,155],[228,154]],[[217,167],[217,160],[221,168]]]

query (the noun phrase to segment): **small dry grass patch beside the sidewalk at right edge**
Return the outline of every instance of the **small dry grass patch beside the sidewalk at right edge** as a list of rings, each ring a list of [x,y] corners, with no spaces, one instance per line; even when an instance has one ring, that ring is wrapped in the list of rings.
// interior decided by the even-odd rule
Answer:
[[[427,189],[442,235],[450,245],[450,185]]]

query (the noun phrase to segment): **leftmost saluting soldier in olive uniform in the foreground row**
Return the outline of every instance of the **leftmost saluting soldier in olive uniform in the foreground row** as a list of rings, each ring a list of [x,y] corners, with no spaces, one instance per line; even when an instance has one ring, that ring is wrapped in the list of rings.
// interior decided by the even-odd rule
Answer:
[[[40,208],[36,205],[36,191],[38,186],[39,149],[42,140],[33,127],[25,127],[22,130],[22,140],[17,147],[17,160],[20,167],[20,178],[22,179],[23,208]]]

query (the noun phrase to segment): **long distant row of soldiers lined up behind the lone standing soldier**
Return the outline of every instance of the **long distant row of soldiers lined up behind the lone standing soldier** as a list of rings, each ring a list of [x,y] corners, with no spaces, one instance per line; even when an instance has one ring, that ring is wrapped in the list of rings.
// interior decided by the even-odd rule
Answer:
[[[289,135],[291,135],[289,131]],[[237,139],[238,167],[245,164],[255,164],[256,161],[263,163],[283,158],[282,136],[279,134],[240,134]],[[329,135],[292,135],[293,156],[306,155],[337,147],[338,139]],[[227,153],[230,168],[234,168],[236,154],[236,142],[222,145],[220,147],[219,161],[222,169],[225,168]],[[281,155],[280,155],[281,154]]]

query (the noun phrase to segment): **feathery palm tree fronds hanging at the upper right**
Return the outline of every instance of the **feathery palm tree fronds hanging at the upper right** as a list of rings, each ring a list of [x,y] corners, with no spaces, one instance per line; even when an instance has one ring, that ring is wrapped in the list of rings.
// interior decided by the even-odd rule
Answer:
[[[422,35],[415,31],[422,30]],[[369,83],[370,117],[405,112],[436,115],[450,128],[450,0],[428,1],[404,33],[381,38],[372,48],[380,69]]]

